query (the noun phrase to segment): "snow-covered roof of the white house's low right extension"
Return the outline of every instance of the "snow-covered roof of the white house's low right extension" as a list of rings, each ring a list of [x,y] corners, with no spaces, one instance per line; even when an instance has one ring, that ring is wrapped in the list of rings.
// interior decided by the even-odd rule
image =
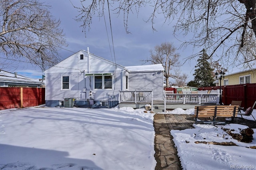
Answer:
[[[164,71],[162,64],[127,66],[125,68],[132,72]]]

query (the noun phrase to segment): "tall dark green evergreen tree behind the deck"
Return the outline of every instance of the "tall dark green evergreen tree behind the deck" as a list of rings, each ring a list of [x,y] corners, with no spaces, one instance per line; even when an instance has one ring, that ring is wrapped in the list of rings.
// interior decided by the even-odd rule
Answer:
[[[197,60],[197,65],[195,66],[195,73],[193,74],[194,81],[198,84],[198,87],[208,87],[208,86],[215,86],[213,84],[214,81],[214,74],[209,61],[209,56],[206,53],[206,50],[203,49],[200,51],[199,59]]]

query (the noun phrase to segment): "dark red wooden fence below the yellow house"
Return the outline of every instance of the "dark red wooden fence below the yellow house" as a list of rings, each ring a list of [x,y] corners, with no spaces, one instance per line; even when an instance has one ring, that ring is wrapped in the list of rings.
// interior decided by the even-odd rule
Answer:
[[[198,90],[216,90],[216,87],[199,87]],[[242,84],[242,85],[225,85],[222,89],[222,103],[229,105],[234,101],[242,101],[241,107],[244,109],[252,107],[256,101],[256,83]],[[256,109],[256,107],[254,108]]]

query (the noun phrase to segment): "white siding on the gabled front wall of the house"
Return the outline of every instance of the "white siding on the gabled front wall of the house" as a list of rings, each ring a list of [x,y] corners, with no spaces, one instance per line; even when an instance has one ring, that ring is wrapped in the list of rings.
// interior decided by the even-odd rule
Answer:
[[[80,59],[80,54],[84,59]],[[90,63],[90,65],[88,64]],[[108,100],[107,93],[114,95],[118,100],[118,91],[121,90],[122,70],[120,65],[102,59],[95,55],[90,55],[85,51],[71,55],[50,69],[46,70],[46,101],[63,101],[64,98],[76,98],[76,100],[88,99],[88,92],[94,92],[94,100]],[[83,72],[84,71],[84,72]],[[94,77],[85,76],[86,73],[113,73],[112,89],[94,89]],[[70,76],[70,90],[62,90],[62,76]],[[84,95],[83,89],[86,88],[87,94]],[[113,97],[113,96],[112,96]]]

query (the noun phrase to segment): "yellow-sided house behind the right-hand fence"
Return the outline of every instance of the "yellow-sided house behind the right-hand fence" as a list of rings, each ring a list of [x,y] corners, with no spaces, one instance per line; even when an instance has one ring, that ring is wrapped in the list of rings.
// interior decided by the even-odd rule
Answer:
[[[220,85],[220,82],[214,81],[216,86]],[[256,83],[256,65],[251,69],[246,70],[234,70],[231,73],[226,73],[224,79],[221,81],[221,85],[238,85],[246,83]]]

